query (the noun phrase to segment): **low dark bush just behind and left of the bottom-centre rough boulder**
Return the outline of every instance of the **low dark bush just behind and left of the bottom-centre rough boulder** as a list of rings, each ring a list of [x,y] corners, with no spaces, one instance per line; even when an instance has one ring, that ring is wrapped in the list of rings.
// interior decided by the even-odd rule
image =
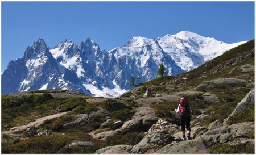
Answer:
[[[119,144],[136,145],[143,139],[144,136],[145,135],[143,132],[128,132],[125,135],[119,133],[117,135],[108,136],[104,146],[114,146]]]

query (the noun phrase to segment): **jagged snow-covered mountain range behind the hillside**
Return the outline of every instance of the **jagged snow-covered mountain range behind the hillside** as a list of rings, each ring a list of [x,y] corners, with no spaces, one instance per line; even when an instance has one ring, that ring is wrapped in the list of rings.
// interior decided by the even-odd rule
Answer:
[[[2,74],[2,94],[39,89],[65,89],[117,97],[130,90],[131,77],[145,82],[158,77],[161,63],[168,75],[187,72],[222,55],[242,41],[226,44],[189,31],[157,39],[133,37],[123,47],[101,50],[88,38],[80,44],[65,40],[47,48],[43,39],[10,61]]]

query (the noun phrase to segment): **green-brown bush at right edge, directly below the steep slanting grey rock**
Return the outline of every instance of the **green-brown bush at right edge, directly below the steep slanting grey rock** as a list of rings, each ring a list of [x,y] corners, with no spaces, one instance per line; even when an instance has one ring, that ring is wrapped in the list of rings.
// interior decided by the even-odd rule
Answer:
[[[228,124],[237,124],[241,122],[254,122],[254,107],[245,108],[237,111],[234,115],[230,116]]]

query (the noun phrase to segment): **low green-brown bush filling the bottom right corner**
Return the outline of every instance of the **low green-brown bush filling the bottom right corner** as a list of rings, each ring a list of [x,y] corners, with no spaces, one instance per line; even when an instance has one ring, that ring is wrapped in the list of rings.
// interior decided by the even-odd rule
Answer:
[[[216,154],[234,154],[234,153],[242,153],[242,154],[254,154],[254,145],[247,144],[246,146],[241,145],[227,145],[227,144],[218,144],[210,148],[210,153]]]

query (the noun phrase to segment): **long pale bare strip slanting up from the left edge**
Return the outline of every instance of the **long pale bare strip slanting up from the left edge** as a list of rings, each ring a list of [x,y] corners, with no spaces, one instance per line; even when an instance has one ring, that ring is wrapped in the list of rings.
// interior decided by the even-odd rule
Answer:
[[[39,119],[36,119],[34,122],[30,122],[30,123],[28,123],[26,125],[22,125],[22,126],[18,126],[18,127],[13,127],[9,131],[2,132],[2,134],[22,133],[27,128],[32,127],[33,125],[35,125],[35,127],[39,127],[39,125],[41,125],[44,122],[44,120],[53,119],[53,118],[59,118],[60,116],[62,116],[64,114],[67,114],[68,112],[69,111],[61,112],[61,113],[58,113],[58,114],[53,114],[53,115],[45,116],[43,118],[39,118]]]

